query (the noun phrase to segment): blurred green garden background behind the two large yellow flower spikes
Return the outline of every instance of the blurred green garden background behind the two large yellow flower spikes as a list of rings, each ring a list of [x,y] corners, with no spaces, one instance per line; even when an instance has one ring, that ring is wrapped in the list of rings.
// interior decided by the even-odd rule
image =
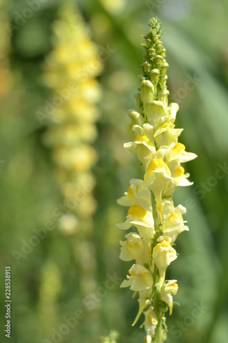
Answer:
[[[129,289],[119,288],[131,263],[118,259],[119,240],[125,233],[115,224],[126,215],[116,199],[130,178],[142,177],[136,157],[123,150],[123,143],[125,114],[136,108],[140,44],[151,16],[159,16],[164,25],[170,102],[179,103],[176,126],[184,128],[180,141],[199,156],[186,165],[194,186],[175,191],[175,204],[187,207],[190,232],[178,238],[179,258],[168,269],[168,276],[178,280],[175,300],[181,306],[167,318],[167,342],[226,342],[228,2],[71,1],[90,25],[103,63],[98,77],[99,134],[94,143],[99,158],[93,167],[97,211],[87,248],[78,233],[66,235],[58,228],[54,211],[64,212],[62,196],[53,178],[51,152],[42,141],[47,123],[40,125],[36,116],[50,96],[41,75],[52,49],[51,25],[67,1],[34,1],[38,9],[25,19],[31,2],[8,0],[1,5],[1,342],[5,265],[12,269],[12,342],[96,343],[111,329],[118,331],[120,343],[143,340],[138,324],[131,327],[138,303]],[[25,20],[20,22],[20,16]],[[55,228],[16,263],[12,251],[21,252],[22,240],[29,241],[34,229],[49,221]],[[92,250],[92,259],[88,260],[86,249]],[[94,296],[80,283],[84,263],[91,267]],[[64,327],[71,317],[76,322]]]

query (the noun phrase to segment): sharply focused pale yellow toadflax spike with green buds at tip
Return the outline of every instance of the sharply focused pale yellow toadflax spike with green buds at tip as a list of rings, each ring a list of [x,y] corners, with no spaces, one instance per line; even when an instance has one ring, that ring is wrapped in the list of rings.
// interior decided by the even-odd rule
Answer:
[[[129,110],[126,121],[131,142],[124,147],[137,154],[144,169],[144,178],[132,179],[118,204],[129,206],[127,219],[118,228],[127,233],[121,241],[123,261],[134,261],[127,280],[121,287],[130,287],[138,294],[139,309],[134,324],[144,314],[145,342],[166,340],[165,313],[173,311],[173,295],[177,280],[166,280],[166,268],[177,259],[173,245],[179,233],[188,230],[183,220],[185,207],[174,206],[173,192],[177,186],[189,186],[189,174],[181,163],[197,157],[186,152],[178,143],[183,129],[175,128],[179,106],[168,104],[166,87],[166,49],[161,41],[160,21],[149,21],[145,38],[142,74],[139,75],[139,93],[135,95],[137,110]]]

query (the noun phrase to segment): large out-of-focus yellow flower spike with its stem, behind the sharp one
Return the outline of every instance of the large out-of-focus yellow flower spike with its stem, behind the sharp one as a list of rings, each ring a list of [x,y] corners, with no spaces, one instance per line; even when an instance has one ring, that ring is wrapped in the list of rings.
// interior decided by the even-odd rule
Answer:
[[[92,176],[97,152],[92,144],[97,138],[97,102],[101,99],[96,76],[102,63],[90,29],[72,2],[60,5],[53,23],[52,45],[42,76],[51,89],[51,97],[45,101],[49,126],[43,141],[51,148],[63,197],[59,228],[64,235],[77,235],[74,256],[80,268],[79,283],[82,294],[88,294],[97,289],[91,238],[92,217],[97,209]]]

